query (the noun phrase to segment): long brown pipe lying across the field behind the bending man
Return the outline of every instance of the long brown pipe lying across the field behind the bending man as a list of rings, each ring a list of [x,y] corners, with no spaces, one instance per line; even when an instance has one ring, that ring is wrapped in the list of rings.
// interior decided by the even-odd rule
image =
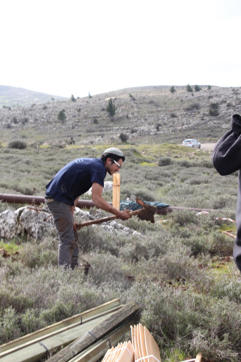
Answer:
[[[31,196],[31,195],[19,195],[19,194],[0,194],[0,201],[3,202],[9,202],[9,203],[20,203],[20,204],[31,204],[31,205],[40,205],[41,203],[44,203],[44,197],[43,196]],[[112,205],[112,202],[109,202],[110,205]],[[91,200],[81,200],[77,202],[77,206],[80,209],[83,209],[86,207],[87,209],[90,209],[90,207],[94,207],[94,203]],[[195,209],[193,207],[179,207],[179,206],[167,206],[163,207],[162,209],[157,210],[157,214],[159,215],[167,215],[168,212],[172,212],[174,210],[189,210],[189,211],[217,211],[217,209]],[[224,212],[235,212],[232,210],[219,210]]]

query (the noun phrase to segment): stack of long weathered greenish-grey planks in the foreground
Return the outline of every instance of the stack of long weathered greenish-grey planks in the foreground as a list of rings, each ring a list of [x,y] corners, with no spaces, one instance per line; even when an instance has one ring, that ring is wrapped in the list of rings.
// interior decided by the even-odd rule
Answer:
[[[59,350],[48,361],[95,362],[117,345],[135,323],[138,306],[114,299],[71,318],[0,346],[1,362],[35,362]],[[74,344],[74,345],[73,345]]]

